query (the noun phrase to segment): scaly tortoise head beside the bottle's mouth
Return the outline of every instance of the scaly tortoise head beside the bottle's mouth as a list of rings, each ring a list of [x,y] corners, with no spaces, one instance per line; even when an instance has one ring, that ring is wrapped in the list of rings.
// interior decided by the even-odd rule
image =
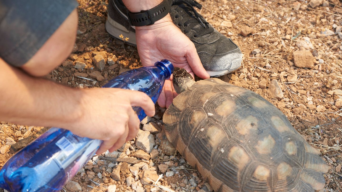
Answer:
[[[172,74],[173,87],[178,94],[187,90],[195,83],[195,80],[193,79],[191,74],[183,68],[175,67]]]

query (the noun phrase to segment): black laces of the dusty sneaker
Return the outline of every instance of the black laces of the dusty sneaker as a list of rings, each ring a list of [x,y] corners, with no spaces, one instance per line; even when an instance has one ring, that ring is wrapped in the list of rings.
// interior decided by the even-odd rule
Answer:
[[[178,14],[182,14],[181,16],[183,18],[186,18],[184,19],[185,22],[183,24],[185,27],[184,33],[194,29],[194,31],[196,31],[194,37],[201,37],[214,31],[212,27],[209,27],[209,23],[199,13],[197,13],[194,8],[202,9],[201,4],[194,0],[172,0],[172,5],[182,3],[187,5],[185,8],[188,8],[188,10],[184,11],[184,8],[178,7],[178,9],[182,10],[177,11]],[[177,18],[179,15],[175,15],[175,17]]]

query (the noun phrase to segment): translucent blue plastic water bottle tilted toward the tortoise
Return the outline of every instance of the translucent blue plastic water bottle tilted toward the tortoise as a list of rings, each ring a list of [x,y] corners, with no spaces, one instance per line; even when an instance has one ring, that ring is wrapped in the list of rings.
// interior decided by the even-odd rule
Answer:
[[[133,69],[110,80],[103,87],[116,87],[146,93],[156,103],[173,65],[164,59],[155,66]],[[133,107],[140,120],[146,117]],[[11,192],[60,191],[95,155],[102,141],[79,137],[62,128],[51,128],[14,154],[0,171],[0,188]]]

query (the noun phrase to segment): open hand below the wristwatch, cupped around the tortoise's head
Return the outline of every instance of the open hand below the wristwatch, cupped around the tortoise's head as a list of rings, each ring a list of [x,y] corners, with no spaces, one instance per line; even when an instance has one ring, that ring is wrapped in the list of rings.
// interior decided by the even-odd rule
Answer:
[[[150,26],[136,27],[137,49],[143,66],[153,65],[161,59],[168,59],[175,67],[186,69],[192,76],[209,78],[198,57],[195,45],[177,28],[167,15]],[[171,81],[165,81],[158,99],[160,107],[169,107],[174,96]]]

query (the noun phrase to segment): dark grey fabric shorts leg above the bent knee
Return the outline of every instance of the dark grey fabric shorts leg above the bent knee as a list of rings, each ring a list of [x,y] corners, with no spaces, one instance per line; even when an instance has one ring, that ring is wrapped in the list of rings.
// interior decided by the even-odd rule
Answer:
[[[75,0],[0,0],[0,57],[22,66],[77,6]]]

